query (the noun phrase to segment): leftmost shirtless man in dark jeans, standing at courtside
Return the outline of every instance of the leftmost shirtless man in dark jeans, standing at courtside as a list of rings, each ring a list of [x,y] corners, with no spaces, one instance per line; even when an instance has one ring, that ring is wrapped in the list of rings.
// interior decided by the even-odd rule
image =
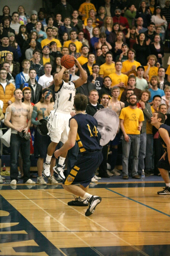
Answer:
[[[10,178],[11,185],[16,185],[18,181],[17,160],[19,149],[23,159],[23,183],[35,184],[30,179],[30,141],[29,138],[21,137],[19,133],[23,131],[23,135],[28,133],[31,125],[30,107],[22,103],[22,91],[18,88],[14,91],[15,102],[7,107],[4,124],[11,128],[11,162],[10,162]],[[27,122],[28,120],[28,122]]]

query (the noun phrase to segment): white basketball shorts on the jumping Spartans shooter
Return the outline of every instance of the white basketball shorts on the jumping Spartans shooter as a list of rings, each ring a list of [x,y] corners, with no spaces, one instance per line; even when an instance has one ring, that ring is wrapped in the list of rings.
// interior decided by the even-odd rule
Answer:
[[[65,143],[68,140],[70,118],[70,113],[62,113],[56,109],[50,111],[47,128],[52,142],[59,143],[61,141]]]

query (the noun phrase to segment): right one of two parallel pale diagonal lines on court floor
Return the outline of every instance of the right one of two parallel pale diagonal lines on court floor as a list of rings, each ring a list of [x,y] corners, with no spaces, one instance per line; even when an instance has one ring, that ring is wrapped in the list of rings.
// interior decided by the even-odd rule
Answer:
[[[49,192],[47,192],[49,195],[51,195]],[[53,196],[53,195],[51,195]],[[53,196],[55,197],[55,196]],[[74,211],[80,213],[78,210],[74,209],[73,207],[71,207],[70,205],[67,205],[66,203],[64,203],[62,200],[58,199],[57,197],[55,197],[57,200],[59,200],[60,202],[62,202],[63,204],[65,204],[66,206],[68,206],[69,208],[72,208]],[[149,254],[141,251],[140,249],[138,249],[137,247],[131,245],[129,242],[125,241],[123,238],[119,237],[118,235],[112,233],[110,230],[106,229],[105,227],[103,227],[102,225],[100,225],[99,223],[97,223],[96,221],[94,221],[93,219],[89,218],[88,216],[85,216],[83,213],[80,213],[81,215],[83,215],[84,217],[88,218],[89,220],[91,220],[93,223],[95,223],[96,225],[98,225],[99,227],[103,228],[104,230],[110,232],[112,235],[114,235],[115,237],[117,237],[118,239],[120,239],[121,241],[123,241],[125,244],[127,244],[128,246],[134,248],[136,251],[141,252],[143,255],[145,256],[149,256]]]

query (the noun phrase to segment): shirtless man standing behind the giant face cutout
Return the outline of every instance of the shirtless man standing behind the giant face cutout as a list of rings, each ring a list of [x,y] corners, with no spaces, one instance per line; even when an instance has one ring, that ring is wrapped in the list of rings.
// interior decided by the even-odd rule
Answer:
[[[124,108],[124,103],[118,100],[120,94],[120,88],[118,86],[114,86],[111,89],[112,99],[109,100],[108,107],[115,111],[117,115],[120,115],[120,111]]]

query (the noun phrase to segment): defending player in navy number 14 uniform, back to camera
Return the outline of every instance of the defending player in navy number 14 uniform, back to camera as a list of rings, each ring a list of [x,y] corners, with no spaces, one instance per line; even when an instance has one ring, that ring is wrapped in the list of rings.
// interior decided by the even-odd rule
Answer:
[[[63,181],[63,188],[75,195],[78,195],[77,204],[75,201],[68,202],[68,205],[88,206],[85,215],[89,216],[95,211],[95,207],[102,200],[99,196],[92,196],[87,193],[95,170],[103,161],[102,146],[100,145],[101,135],[97,130],[97,120],[85,113],[88,99],[83,94],[74,97],[74,108],[76,115],[70,118],[69,135],[67,142],[54,152],[58,158],[64,152],[72,148],[76,141],[81,156]],[[80,184],[80,187],[74,184]]]

